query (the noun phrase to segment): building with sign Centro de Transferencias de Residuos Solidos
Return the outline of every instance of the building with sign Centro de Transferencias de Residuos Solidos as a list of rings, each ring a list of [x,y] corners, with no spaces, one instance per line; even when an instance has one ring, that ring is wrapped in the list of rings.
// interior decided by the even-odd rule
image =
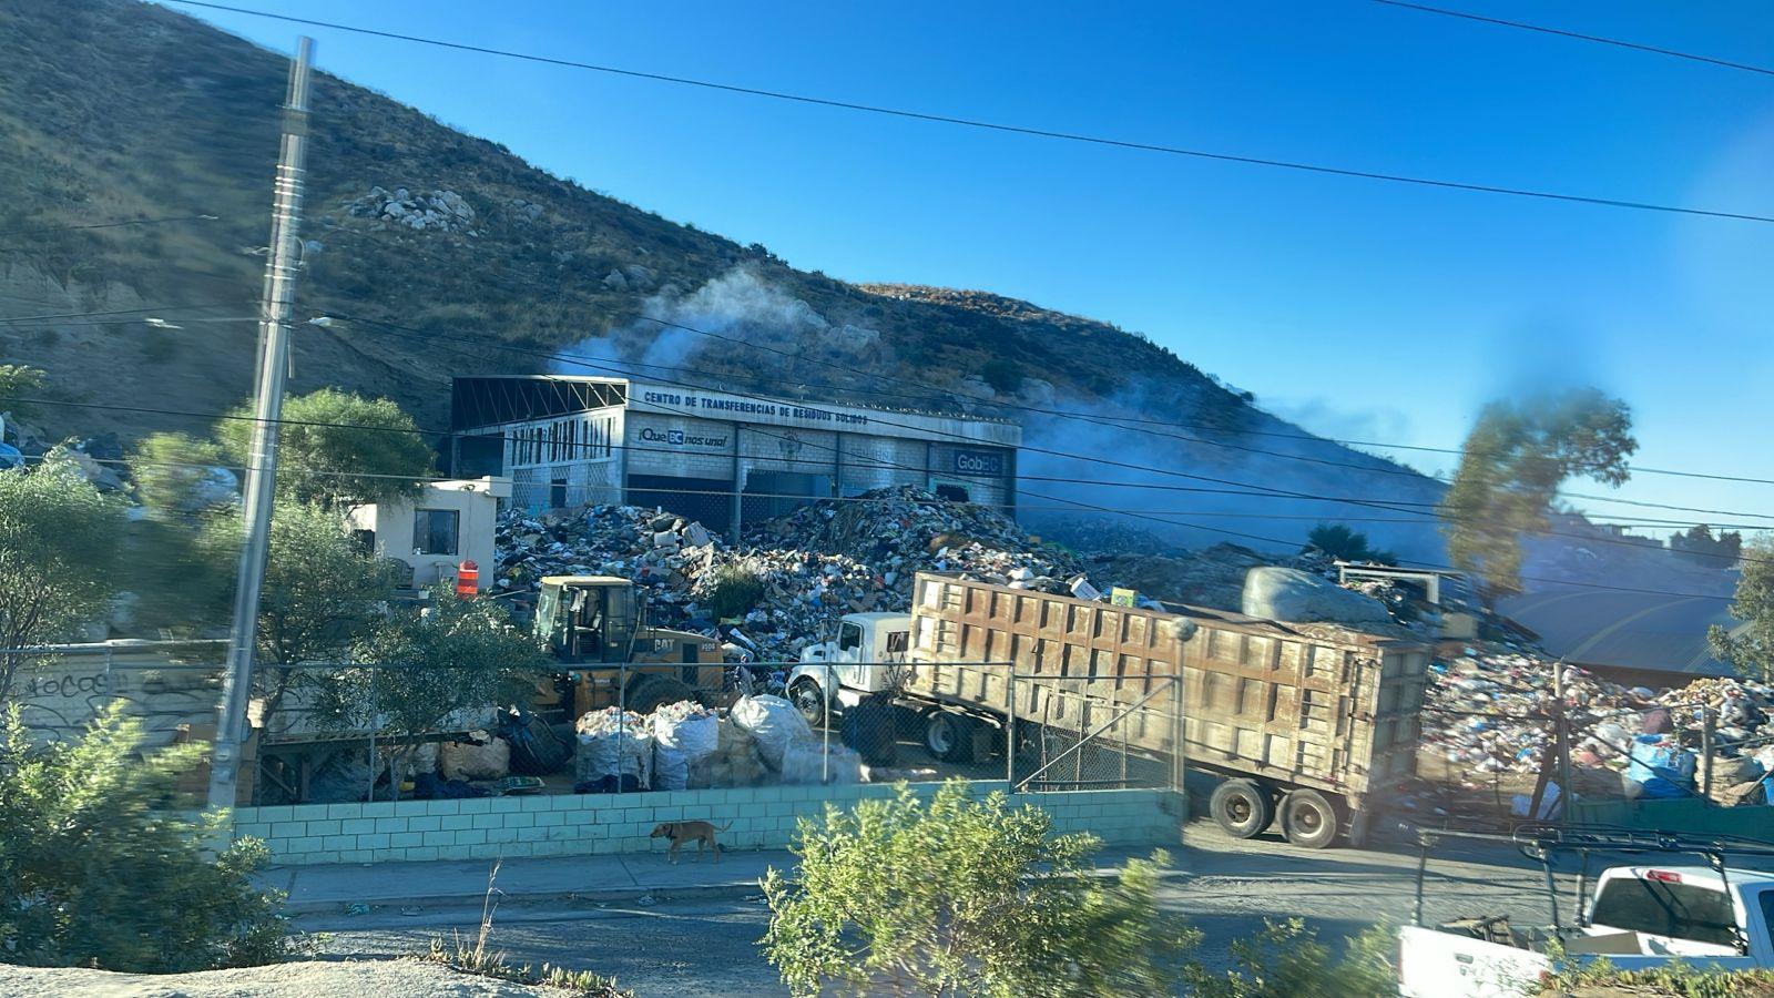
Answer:
[[[711,529],[814,499],[915,485],[1015,513],[1009,421],[630,378],[472,376],[451,398],[454,474],[506,474],[541,511],[663,506]]]

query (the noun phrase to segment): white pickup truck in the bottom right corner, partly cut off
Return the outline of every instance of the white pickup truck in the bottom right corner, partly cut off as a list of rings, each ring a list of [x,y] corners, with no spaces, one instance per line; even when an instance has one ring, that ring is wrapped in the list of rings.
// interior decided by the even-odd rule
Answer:
[[[1723,867],[1721,867],[1723,870]],[[1561,932],[1469,918],[1398,938],[1405,998],[1520,998],[1543,975],[1607,959],[1618,970],[1682,961],[1719,970],[1774,968],[1774,874],[1708,867],[1613,867],[1582,923]],[[1558,947],[1549,943],[1558,941]],[[1549,948],[1561,948],[1559,957]]]

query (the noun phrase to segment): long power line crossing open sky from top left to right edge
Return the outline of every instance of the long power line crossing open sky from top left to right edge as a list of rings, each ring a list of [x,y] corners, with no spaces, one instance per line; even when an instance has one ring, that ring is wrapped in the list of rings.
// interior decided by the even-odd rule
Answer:
[[[289,23],[298,23],[298,25],[310,25],[310,27],[318,27],[318,28],[332,28],[332,30],[353,32],[353,34],[374,36],[374,37],[385,37],[385,39],[394,39],[394,41],[408,41],[408,43],[415,43],[415,44],[429,44],[429,46],[449,48],[449,50],[456,50],[456,51],[475,51],[475,53],[481,53],[481,55],[497,55],[497,57],[502,57],[502,59],[522,59],[525,62],[539,62],[539,64],[545,64],[545,66],[561,66],[561,67],[568,67],[568,69],[587,69],[587,71],[593,71],[593,73],[607,73],[607,75],[628,76],[628,78],[635,78],[635,80],[651,80],[651,82],[658,82],[658,83],[676,83],[676,85],[683,85],[683,87],[701,87],[701,89],[706,89],[706,91],[722,91],[722,92],[729,92],[729,94],[743,94],[743,96],[752,96],[752,98],[768,98],[768,99],[775,99],[775,101],[791,101],[791,103],[800,103],[800,105],[827,107],[827,108],[837,108],[837,110],[853,110],[853,112],[864,112],[864,114],[875,114],[875,115],[885,115],[885,117],[910,119],[910,121],[930,121],[930,123],[938,123],[938,124],[958,124],[958,126],[963,126],[963,128],[977,128],[977,130],[985,130],[985,131],[999,131],[999,133],[1008,133],[1008,135],[1025,135],[1025,137],[1032,137],[1032,139],[1056,139],[1056,140],[1063,140],[1063,142],[1080,142],[1080,144],[1089,144],[1089,146],[1107,146],[1107,147],[1116,147],[1116,149],[1132,149],[1132,151],[1139,151],[1139,153],[1162,153],[1162,154],[1169,154],[1169,156],[1189,156],[1189,158],[1196,158],[1196,160],[1213,160],[1213,162],[1242,163],[1242,165],[1252,165],[1252,167],[1274,167],[1274,169],[1284,169],[1284,170],[1299,170],[1299,172],[1313,172],[1313,174],[1327,174],[1327,176],[1341,176],[1341,178],[1357,178],[1357,179],[1373,179],[1373,181],[1387,181],[1387,183],[1407,183],[1407,185],[1433,186],[1433,188],[1442,188],[1442,190],[1464,190],[1464,192],[1474,192],[1474,194],[1499,194],[1499,195],[1511,195],[1511,197],[1535,197],[1535,199],[1542,199],[1542,201],[1563,201],[1563,202],[1574,202],[1574,204],[1597,204],[1597,206],[1604,206],[1604,208],[1630,208],[1630,210],[1637,210],[1637,211],[1662,211],[1662,213],[1675,213],[1675,215],[1703,215],[1703,217],[1710,217],[1710,218],[1733,218],[1733,220],[1740,220],[1740,222],[1774,222],[1774,217],[1769,217],[1769,215],[1751,215],[1751,213],[1742,213],[1742,211],[1714,211],[1714,210],[1705,210],[1705,208],[1685,208],[1685,206],[1678,206],[1678,204],[1655,204],[1655,202],[1648,202],[1648,201],[1625,201],[1625,199],[1614,199],[1614,197],[1593,197],[1593,195],[1582,195],[1582,194],[1558,194],[1558,192],[1547,192],[1547,190],[1529,190],[1529,188],[1515,188],[1515,186],[1501,186],[1501,185],[1487,185],[1487,183],[1467,183],[1467,181],[1417,178],[1417,176],[1405,176],[1405,174],[1387,174],[1387,172],[1380,172],[1380,170],[1361,170],[1361,169],[1352,169],[1352,167],[1330,167],[1330,165],[1323,165],[1323,163],[1302,163],[1302,162],[1293,162],[1293,160],[1272,160],[1272,158],[1263,158],[1263,156],[1244,156],[1244,154],[1217,153],[1217,151],[1208,151],[1208,149],[1189,149],[1189,147],[1183,147],[1183,146],[1164,146],[1164,144],[1157,144],[1157,142],[1135,142],[1135,140],[1126,140],[1126,139],[1109,139],[1109,137],[1102,137],[1102,135],[1086,135],[1086,133],[1061,131],[1061,130],[1052,130],[1052,128],[1032,128],[1032,126],[1020,126],[1020,124],[1004,124],[1004,123],[983,121],[983,119],[972,119],[972,117],[956,117],[956,115],[947,115],[947,114],[933,114],[933,112],[921,112],[921,110],[908,110],[908,108],[894,108],[894,107],[885,107],[885,105],[866,105],[866,103],[859,103],[859,101],[843,101],[843,99],[836,99],[836,98],[818,98],[818,96],[811,96],[811,94],[793,94],[793,92],[788,92],[788,91],[768,91],[768,89],[761,89],[761,87],[743,87],[743,85],[738,85],[738,83],[718,83],[718,82],[713,82],[713,80],[697,80],[697,78],[692,78],[692,76],[672,76],[672,75],[665,75],[665,73],[646,73],[646,71],[640,71],[640,69],[623,69],[623,67],[617,67],[617,66],[601,66],[601,64],[596,64],[596,62],[578,62],[578,60],[571,60],[571,59],[553,59],[553,57],[548,57],[548,55],[534,55],[534,53],[527,53],[527,51],[513,51],[513,50],[488,48],[488,46],[479,46],[479,44],[465,44],[465,43],[454,43],[454,41],[444,41],[444,39],[422,37],[422,36],[410,36],[410,34],[399,34],[399,32],[383,32],[383,30],[365,28],[365,27],[357,27],[357,25],[341,25],[341,23],[335,23],[335,21],[319,21],[319,20],[312,20],[312,18],[296,18],[296,16],[289,16],[289,14],[271,14],[268,11],[252,11],[252,9],[247,9],[247,7],[231,7],[231,5],[225,5],[225,4],[208,4],[208,2],[200,2],[200,0],[170,0],[170,2],[172,4],[183,4],[186,7],[202,7],[202,9],[209,9],[209,11],[227,11],[227,12],[232,12],[232,14],[247,14],[247,16],[254,16],[254,18],[270,18],[270,20],[277,20],[277,21],[289,21]]]

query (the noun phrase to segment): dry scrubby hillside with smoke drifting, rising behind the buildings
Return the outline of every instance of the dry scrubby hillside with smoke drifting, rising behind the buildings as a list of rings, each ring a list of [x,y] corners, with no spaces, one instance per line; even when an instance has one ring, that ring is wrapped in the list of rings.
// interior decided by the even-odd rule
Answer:
[[[216,217],[0,236],[0,320],[154,309],[0,323],[0,357],[46,368],[51,391],[71,401],[213,414],[245,398],[286,59],[135,0],[0,0],[0,233]],[[1224,529],[1299,538],[1316,515],[1364,510],[1274,492],[1412,508],[1439,495],[1407,469],[1300,439],[1249,396],[1114,325],[981,291],[797,270],[761,245],[585,190],[325,73],[312,107],[298,314],[335,321],[300,327],[293,391],[387,394],[442,426],[451,375],[651,364],[642,369],[655,378],[979,408],[1025,423],[1025,474],[1066,479],[1031,483],[1031,517],[1061,499],[1167,520],[1189,522],[1174,510],[1219,517],[1185,531],[1196,543],[1224,540]],[[147,316],[181,329],[138,321]],[[1052,408],[1098,419],[1041,412]],[[1111,416],[1181,426],[1102,423]],[[135,437],[200,423],[55,412],[59,433]],[[1116,455],[1126,467],[1043,449]],[[1109,476],[1167,488],[1100,485]],[[1405,554],[1439,550],[1421,520],[1371,533]]]

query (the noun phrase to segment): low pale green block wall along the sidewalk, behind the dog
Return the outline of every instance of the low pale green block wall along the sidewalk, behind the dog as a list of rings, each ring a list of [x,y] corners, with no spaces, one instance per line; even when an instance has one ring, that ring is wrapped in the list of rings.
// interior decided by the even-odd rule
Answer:
[[[924,797],[937,787],[915,785]],[[972,783],[976,796],[1002,788]],[[665,820],[731,822],[726,849],[784,849],[797,819],[821,815],[827,803],[892,794],[871,783],[241,808],[234,835],[263,838],[279,865],[651,852],[665,844],[648,833]],[[1054,815],[1056,833],[1091,831],[1111,845],[1174,845],[1187,817],[1166,790],[1018,794],[1013,803]]]

